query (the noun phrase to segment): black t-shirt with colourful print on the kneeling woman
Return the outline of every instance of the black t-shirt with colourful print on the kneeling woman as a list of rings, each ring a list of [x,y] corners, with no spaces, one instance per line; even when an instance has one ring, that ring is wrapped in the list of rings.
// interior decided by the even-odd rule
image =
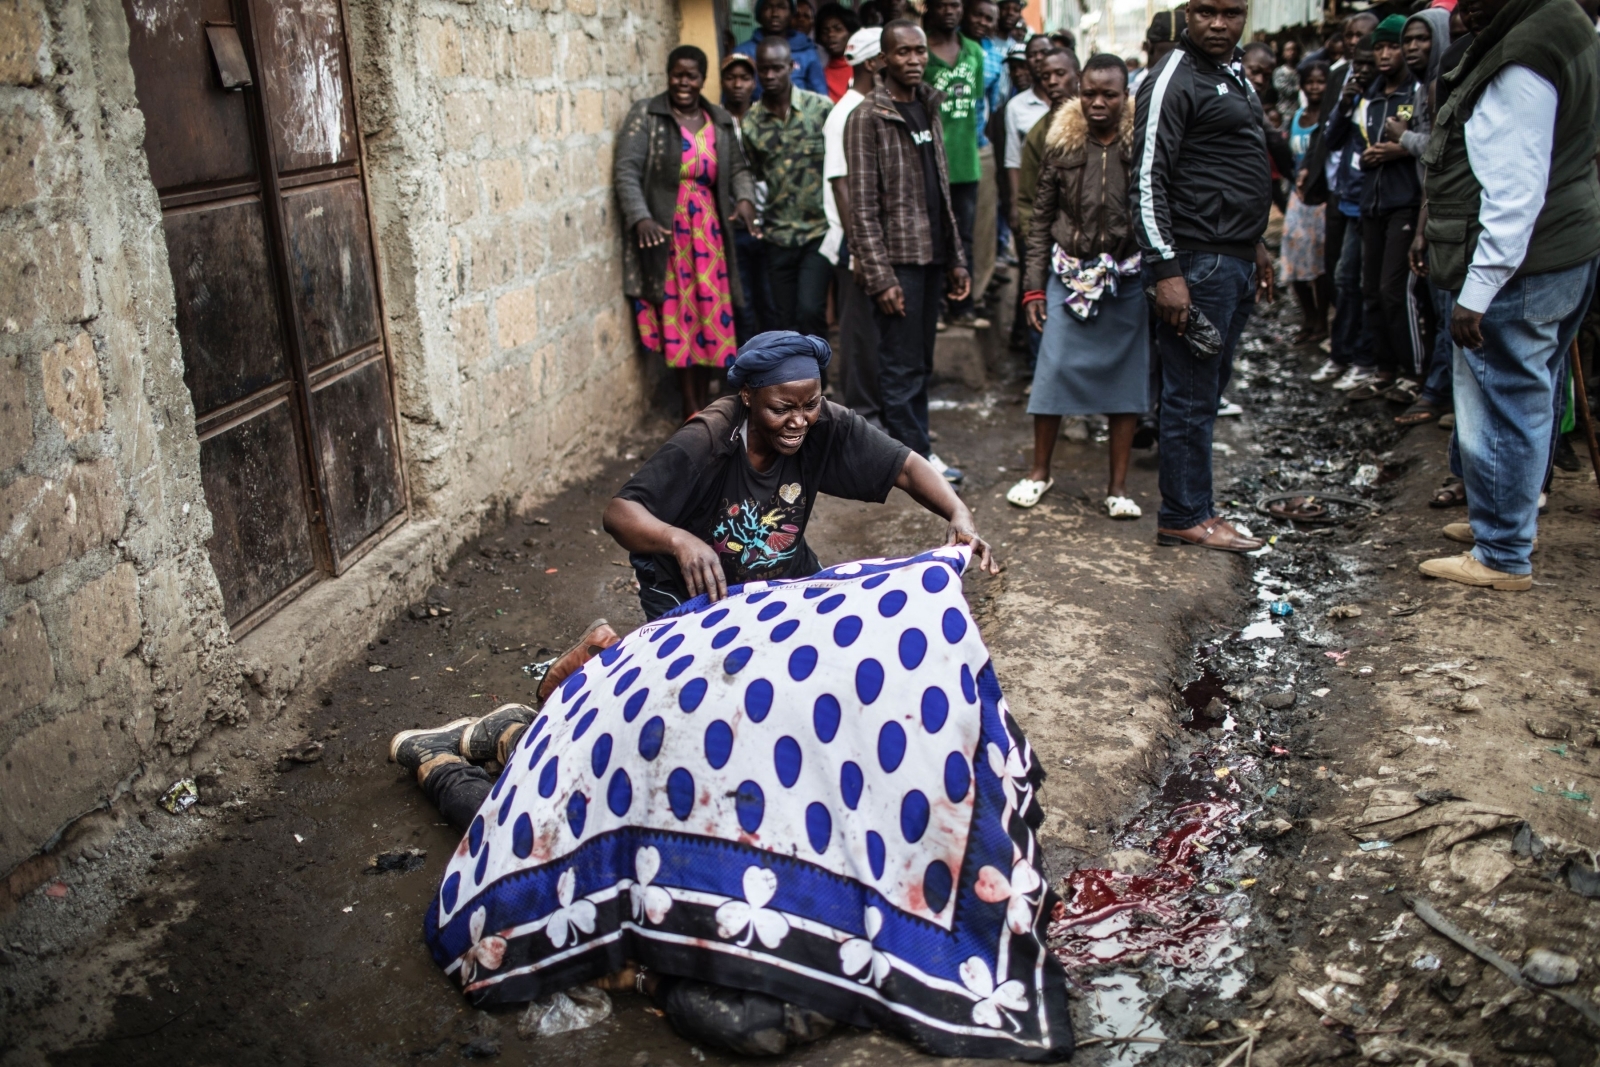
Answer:
[[[760,472],[741,435],[746,418],[738,395],[718,398],[656,450],[618,496],[715,547],[730,585],[814,574],[805,528],[818,493],[882,504],[910,450],[824,400],[800,451]],[[634,557],[634,565],[642,585],[688,598],[674,557]]]

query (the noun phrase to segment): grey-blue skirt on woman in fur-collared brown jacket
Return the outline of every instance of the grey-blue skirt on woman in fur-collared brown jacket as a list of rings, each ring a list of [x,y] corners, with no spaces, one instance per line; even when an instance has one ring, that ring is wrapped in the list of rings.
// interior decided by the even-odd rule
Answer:
[[[1066,309],[1067,288],[1045,283],[1048,315],[1029,414],[1144,414],[1150,410],[1150,310],[1139,278],[1118,278],[1088,322]]]

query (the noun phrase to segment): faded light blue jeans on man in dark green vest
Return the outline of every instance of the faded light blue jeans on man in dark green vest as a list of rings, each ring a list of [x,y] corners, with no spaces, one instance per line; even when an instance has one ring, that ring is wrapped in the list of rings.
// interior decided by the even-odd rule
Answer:
[[[1456,349],[1456,440],[1478,563],[1530,574],[1539,490],[1565,400],[1566,350],[1600,258],[1512,278],[1483,314],[1483,347]]]

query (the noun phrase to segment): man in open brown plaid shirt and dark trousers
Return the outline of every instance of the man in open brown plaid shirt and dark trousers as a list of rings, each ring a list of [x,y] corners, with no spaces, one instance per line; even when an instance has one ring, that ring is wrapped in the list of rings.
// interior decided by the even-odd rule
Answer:
[[[941,94],[923,83],[928,38],[896,19],[883,27],[885,77],[845,123],[851,259],[878,323],[883,427],[949,480],[930,454],[928,379],[939,304],[971,290],[950,208]]]

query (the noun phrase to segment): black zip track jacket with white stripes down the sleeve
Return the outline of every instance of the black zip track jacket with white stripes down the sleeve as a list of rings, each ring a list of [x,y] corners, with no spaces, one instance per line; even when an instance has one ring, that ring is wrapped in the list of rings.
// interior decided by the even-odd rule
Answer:
[[[1181,274],[1179,251],[1254,262],[1272,211],[1266,122],[1243,53],[1221,66],[1187,32],[1139,85],[1128,208],[1157,278]]]

